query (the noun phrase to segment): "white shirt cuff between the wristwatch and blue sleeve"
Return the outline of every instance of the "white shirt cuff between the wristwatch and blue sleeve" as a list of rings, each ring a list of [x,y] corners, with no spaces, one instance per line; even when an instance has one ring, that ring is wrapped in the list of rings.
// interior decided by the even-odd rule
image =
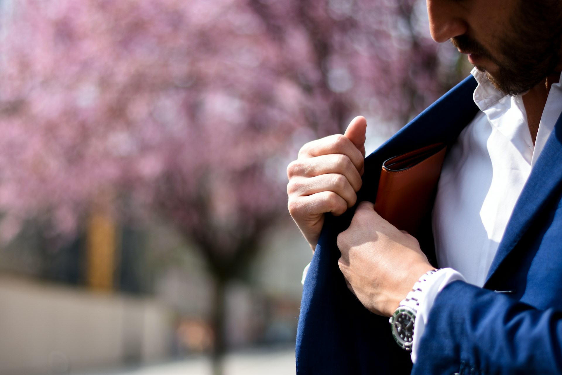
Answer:
[[[443,290],[449,283],[457,280],[465,281],[463,275],[452,268],[442,268],[437,272],[428,275],[423,283],[422,293],[419,296],[418,312],[416,313],[416,321],[414,328],[414,336],[412,337],[412,362],[416,363],[418,358],[418,342],[423,335],[425,324],[429,318],[429,311],[433,306],[433,302],[439,292]]]

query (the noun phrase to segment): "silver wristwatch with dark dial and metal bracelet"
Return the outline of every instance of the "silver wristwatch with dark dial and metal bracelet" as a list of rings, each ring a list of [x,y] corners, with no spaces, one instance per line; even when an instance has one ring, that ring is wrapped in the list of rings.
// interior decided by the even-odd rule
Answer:
[[[416,313],[418,313],[419,297],[422,295],[422,283],[427,281],[430,274],[436,273],[436,269],[432,269],[423,274],[422,277],[414,284],[412,290],[406,298],[400,302],[400,306],[396,309],[388,322],[392,326],[392,336],[402,349],[412,350],[412,342],[414,340],[414,327],[416,321]]]

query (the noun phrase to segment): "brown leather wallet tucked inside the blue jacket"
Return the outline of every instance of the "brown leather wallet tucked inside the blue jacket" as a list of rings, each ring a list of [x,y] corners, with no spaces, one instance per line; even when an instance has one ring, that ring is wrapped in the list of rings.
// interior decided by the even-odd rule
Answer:
[[[436,143],[383,162],[375,211],[415,237],[432,209],[446,150]]]

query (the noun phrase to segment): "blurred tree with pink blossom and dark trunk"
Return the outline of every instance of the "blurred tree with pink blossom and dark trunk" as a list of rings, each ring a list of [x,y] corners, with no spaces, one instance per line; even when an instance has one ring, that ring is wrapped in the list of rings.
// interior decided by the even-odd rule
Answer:
[[[416,3],[13,2],[0,47],[0,230],[47,215],[72,234],[107,196],[117,218],[161,215],[215,281],[220,358],[225,285],[286,215],[279,165],[296,134],[340,132],[360,110],[407,120],[454,80]]]

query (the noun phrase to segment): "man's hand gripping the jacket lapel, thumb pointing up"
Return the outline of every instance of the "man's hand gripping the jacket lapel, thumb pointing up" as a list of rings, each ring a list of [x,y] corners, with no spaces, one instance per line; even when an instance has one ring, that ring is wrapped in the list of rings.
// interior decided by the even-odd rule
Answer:
[[[355,205],[365,159],[367,120],[357,116],[345,134],[306,143],[287,167],[289,213],[312,250],[320,237],[324,214],[341,215]]]

